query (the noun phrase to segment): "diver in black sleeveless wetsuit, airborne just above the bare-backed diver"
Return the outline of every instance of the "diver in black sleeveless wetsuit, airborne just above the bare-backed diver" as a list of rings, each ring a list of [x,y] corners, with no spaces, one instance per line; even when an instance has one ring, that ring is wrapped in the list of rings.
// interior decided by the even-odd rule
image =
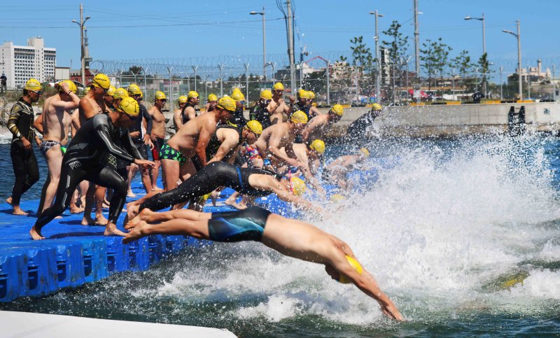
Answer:
[[[262,197],[275,193],[279,199],[293,202],[318,213],[323,211],[298,197],[304,191],[304,183],[299,178],[283,180],[281,176],[262,169],[235,167],[225,162],[212,162],[195,175],[181,183],[174,190],[151,197],[143,197],[127,205],[127,216],[132,218],[142,209],[161,210],[175,204],[187,202],[195,197],[209,194],[221,186],[234,189],[241,194]]]

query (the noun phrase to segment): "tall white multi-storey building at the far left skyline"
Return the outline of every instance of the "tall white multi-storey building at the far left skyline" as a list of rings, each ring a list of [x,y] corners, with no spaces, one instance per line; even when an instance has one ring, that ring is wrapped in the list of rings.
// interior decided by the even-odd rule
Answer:
[[[55,78],[56,48],[45,48],[41,36],[27,39],[27,45],[5,42],[0,46],[0,69],[8,78],[8,89],[20,88],[29,78],[47,82]]]

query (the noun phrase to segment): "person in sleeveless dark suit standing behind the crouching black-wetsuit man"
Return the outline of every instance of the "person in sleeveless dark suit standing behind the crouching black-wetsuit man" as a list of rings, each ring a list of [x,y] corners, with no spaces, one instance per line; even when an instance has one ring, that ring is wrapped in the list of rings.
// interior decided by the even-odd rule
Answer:
[[[150,115],[150,113],[148,113],[148,109],[146,109],[146,106],[144,106],[144,104],[141,104],[141,97],[142,97],[142,92],[140,90],[140,87],[138,87],[138,85],[135,85],[134,83],[132,83],[132,85],[129,85],[128,88],[128,94],[130,97],[136,99],[136,101],[138,102],[138,106],[140,107],[140,113],[138,116],[132,117],[132,125],[129,128],[130,131],[130,138],[132,139],[132,143],[134,143],[134,146],[138,149],[140,155],[142,155],[143,158],[147,159],[148,158],[148,149],[146,148],[146,146],[148,146],[150,149],[153,148],[153,143],[151,141],[150,135],[152,134],[152,115]],[[142,121],[146,120],[146,132],[142,132]],[[135,197],[136,195],[134,195],[134,193],[132,193],[132,189],[130,188],[130,185],[132,183],[132,178],[134,178],[134,176],[137,173],[137,167],[135,165],[131,165],[130,169],[128,171],[128,191],[127,191],[127,195],[129,197]],[[152,191],[152,180],[150,177],[150,173],[146,170],[141,170],[140,171],[141,177],[142,177],[142,184],[144,185],[144,189],[146,190],[146,193],[151,192]]]

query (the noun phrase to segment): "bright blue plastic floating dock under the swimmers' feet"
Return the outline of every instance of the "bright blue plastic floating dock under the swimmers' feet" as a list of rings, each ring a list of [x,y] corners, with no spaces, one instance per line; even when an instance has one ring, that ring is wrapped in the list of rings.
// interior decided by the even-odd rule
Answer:
[[[132,190],[137,197],[127,202],[143,196],[144,188],[139,181],[132,183]],[[204,211],[235,210],[224,204],[233,192],[230,188],[224,189],[216,206],[208,202]],[[10,205],[0,204],[0,302],[11,302],[22,296],[41,297],[62,288],[99,281],[117,272],[143,271],[187,247],[212,243],[192,237],[152,235],[123,244],[123,237],[104,236],[103,226],[81,225],[83,213],[71,214],[69,210],[62,218],[43,227],[45,239],[33,241],[29,230],[36,221],[38,201],[26,201],[25,195],[22,200],[20,206],[28,216],[12,215]],[[298,216],[293,205],[276,195],[261,197],[255,202],[283,216]],[[104,209],[105,217],[108,217],[107,212]],[[124,230],[125,215],[121,213],[118,219],[120,230]]]

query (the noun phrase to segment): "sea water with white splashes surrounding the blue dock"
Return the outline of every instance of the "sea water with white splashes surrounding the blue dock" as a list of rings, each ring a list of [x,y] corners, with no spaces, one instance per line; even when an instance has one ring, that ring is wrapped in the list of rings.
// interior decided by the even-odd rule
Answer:
[[[248,242],[189,248],[147,272],[0,309],[202,325],[239,337],[558,335],[559,139],[373,139],[370,150],[377,181],[354,181],[348,199],[307,220],[353,248],[404,323],[320,265]],[[328,156],[345,152],[333,146]],[[13,182],[5,177],[2,192]]]

